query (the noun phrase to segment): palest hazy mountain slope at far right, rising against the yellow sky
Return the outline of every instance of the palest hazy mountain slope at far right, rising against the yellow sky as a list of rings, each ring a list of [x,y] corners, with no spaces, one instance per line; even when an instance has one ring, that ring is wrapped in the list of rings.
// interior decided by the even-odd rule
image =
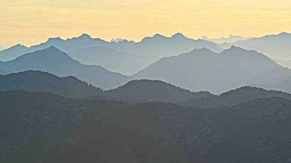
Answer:
[[[282,32],[277,35],[266,35],[232,44],[247,50],[256,50],[272,59],[291,59],[291,33]]]

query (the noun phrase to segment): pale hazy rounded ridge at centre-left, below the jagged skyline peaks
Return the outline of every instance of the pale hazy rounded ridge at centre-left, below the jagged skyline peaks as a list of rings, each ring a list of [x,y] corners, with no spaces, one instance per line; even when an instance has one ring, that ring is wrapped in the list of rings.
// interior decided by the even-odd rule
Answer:
[[[125,75],[132,75],[146,68],[150,60],[132,52],[118,52],[106,46],[83,48],[72,52],[71,56],[83,64],[97,64]]]

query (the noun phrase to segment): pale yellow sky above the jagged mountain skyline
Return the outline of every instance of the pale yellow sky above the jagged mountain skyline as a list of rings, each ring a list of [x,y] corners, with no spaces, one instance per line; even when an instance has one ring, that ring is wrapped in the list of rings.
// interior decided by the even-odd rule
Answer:
[[[160,33],[190,38],[291,32],[291,0],[0,0],[0,46],[88,33],[140,41]]]

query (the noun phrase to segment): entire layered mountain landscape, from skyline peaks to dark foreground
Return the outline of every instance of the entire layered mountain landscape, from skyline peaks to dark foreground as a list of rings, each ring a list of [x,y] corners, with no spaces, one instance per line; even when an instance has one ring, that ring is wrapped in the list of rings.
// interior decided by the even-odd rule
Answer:
[[[290,163],[290,39],[82,34],[2,50],[0,163]]]

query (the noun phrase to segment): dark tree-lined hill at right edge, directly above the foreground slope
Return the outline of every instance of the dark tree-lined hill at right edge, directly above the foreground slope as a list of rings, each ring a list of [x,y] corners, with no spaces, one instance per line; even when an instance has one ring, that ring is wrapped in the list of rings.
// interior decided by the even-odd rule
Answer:
[[[237,104],[247,103],[258,98],[283,98],[291,100],[291,94],[276,90],[265,90],[255,87],[242,87],[235,90],[222,93],[220,95],[209,96],[201,99],[192,99],[179,103],[186,106],[211,108],[224,106],[233,106]]]

